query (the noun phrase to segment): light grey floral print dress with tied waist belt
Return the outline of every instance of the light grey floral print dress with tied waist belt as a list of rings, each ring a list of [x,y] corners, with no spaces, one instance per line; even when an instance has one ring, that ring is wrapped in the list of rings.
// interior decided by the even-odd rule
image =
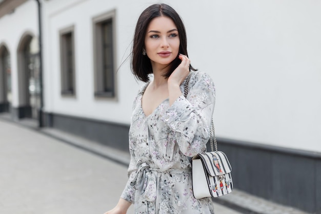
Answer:
[[[136,213],[214,213],[211,198],[195,199],[191,157],[206,147],[215,104],[211,77],[191,71],[187,98],[169,106],[164,100],[150,115],[142,109],[138,92],[129,130],[129,179],[121,198],[134,204]],[[186,80],[180,85],[184,93]]]

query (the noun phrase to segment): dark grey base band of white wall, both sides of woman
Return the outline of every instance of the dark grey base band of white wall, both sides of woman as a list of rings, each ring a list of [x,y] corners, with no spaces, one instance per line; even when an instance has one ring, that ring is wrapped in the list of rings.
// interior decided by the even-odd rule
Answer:
[[[127,124],[56,113],[43,115],[45,126],[128,151]],[[217,143],[229,158],[236,189],[278,204],[321,213],[321,153],[224,138],[217,138]]]

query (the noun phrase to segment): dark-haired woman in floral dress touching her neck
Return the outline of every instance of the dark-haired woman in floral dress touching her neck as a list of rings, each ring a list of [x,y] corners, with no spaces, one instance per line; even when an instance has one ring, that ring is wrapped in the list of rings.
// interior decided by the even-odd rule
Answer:
[[[214,84],[190,65],[185,27],[173,8],[155,4],[144,10],[131,63],[146,84],[133,105],[129,180],[118,204],[105,214],[126,213],[132,203],[135,213],[214,213],[211,198],[193,197],[191,176],[191,157],[210,137]]]

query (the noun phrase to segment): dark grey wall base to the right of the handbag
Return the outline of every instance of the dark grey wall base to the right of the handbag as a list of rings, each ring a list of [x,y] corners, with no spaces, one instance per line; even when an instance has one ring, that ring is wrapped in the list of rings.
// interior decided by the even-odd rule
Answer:
[[[221,138],[217,143],[230,161],[235,188],[321,213],[320,153]]]

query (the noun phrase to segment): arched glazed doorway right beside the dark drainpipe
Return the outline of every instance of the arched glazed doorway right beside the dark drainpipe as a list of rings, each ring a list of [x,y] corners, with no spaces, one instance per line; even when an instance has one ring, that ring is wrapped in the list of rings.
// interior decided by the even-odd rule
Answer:
[[[18,48],[18,118],[38,118],[40,107],[39,65],[37,38],[26,34]]]

